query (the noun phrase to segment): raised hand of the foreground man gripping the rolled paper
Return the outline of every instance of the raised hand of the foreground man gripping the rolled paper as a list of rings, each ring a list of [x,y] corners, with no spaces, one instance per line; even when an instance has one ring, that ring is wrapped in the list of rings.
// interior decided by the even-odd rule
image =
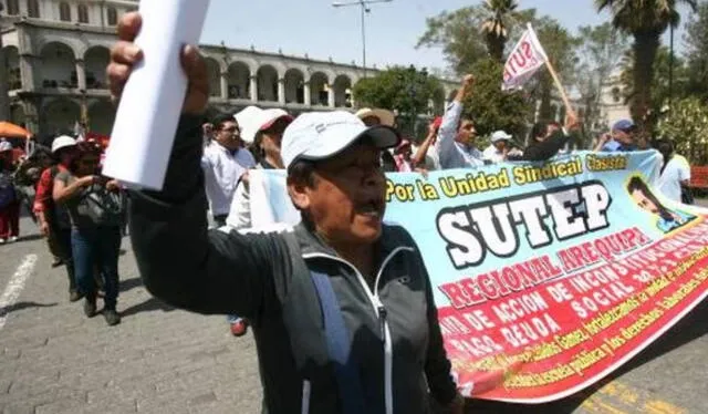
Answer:
[[[143,20],[137,12],[125,13],[118,22],[119,41],[111,50],[111,63],[106,70],[114,102],[121,99],[133,68],[143,59],[143,51],[134,43],[142,24]],[[192,45],[183,49],[180,59],[189,82],[181,112],[199,115],[205,111],[209,99],[207,65],[197,48]]]

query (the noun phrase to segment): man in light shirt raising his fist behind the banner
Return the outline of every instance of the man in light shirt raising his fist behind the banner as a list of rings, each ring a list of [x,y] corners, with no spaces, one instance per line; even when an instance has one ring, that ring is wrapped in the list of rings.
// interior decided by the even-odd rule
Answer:
[[[467,75],[462,86],[457,92],[455,100],[448,105],[442,117],[437,142],[437,152],[440,157],[440,168],[469,168],[485,165],[482,153],[475,147],[477,130],[475,122],[462,118],[465,105],[462,101],[472,91],[475,76]]]

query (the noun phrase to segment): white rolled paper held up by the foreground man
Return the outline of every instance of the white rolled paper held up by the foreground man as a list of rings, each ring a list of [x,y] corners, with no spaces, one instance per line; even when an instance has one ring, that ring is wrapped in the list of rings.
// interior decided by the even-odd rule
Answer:
[[[187,90],[179,54],[199,41],[208,7],[208,0],[140,1],[143,25],[135,43],[144,59],[121,97],[106,176],[134,187],[163,187]]]

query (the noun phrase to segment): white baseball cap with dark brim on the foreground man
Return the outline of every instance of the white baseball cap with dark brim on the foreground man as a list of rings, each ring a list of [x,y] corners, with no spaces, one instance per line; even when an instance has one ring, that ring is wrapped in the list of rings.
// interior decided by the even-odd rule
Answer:
[[[398,145],[400,136],[391,126],[366,127],[356,115],[345,111],[312,112],[293,121],[283,135],[281,156],[285,168],[298,159],[331,158],[362,137],[369,137],[378,148]]]

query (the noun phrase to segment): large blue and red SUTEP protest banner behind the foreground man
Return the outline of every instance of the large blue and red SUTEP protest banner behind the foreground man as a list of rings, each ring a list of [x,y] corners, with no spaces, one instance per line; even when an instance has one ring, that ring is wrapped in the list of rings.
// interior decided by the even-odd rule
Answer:
[[[423,253],[464,395],[574,394],[706,298],[708,216],[652,189],[659,157],[579,153],[387,175],[386,221]],[[254,186],[254,226],[298,220],[284,172],[259,170]]]

